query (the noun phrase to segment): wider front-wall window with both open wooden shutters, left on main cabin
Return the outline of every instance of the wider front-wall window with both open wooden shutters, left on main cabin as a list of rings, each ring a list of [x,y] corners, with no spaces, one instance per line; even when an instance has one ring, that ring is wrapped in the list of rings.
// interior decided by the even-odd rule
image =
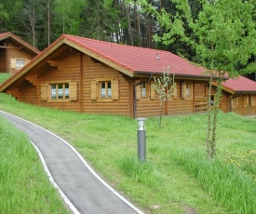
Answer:
[[[77,100],[77,83],[41,84],[41,101],[47,100]]]

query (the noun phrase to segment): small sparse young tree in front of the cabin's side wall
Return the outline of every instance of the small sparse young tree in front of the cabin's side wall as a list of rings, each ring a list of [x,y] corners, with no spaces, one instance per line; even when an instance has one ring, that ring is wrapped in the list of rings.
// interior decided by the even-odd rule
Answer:
[[[154,81],[154,88],[158,94],[158,98],[160,99],[161,113],[159,127],[161,127],[164,103],[172,96],[173,89],[175,87],[174,75],[173,78],[170,78],[168,67],[167,69],[164,69],[163,76],[159,78],[154,77]]]

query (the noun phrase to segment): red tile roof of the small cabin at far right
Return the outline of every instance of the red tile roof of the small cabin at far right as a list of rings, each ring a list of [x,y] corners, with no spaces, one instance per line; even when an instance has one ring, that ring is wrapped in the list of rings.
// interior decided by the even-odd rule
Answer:
[[[222,85],[223,87],[226,87],[226,89],[236,93],[256,92],[256,82],[244,76],[238,76],[238,78],[230,78],[226,80]]]

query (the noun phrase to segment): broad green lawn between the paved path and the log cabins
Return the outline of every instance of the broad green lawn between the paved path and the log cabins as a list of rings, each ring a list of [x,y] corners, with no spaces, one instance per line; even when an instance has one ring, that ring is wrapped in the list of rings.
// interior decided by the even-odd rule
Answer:
[[[17,102],[0,110],[69,141],[99,174],[145,213],[256,213],[256,119],[219,116],[217,157],[206,156],[207,114],[146,120],[147,161],[137,161],[137,121]],[[1,196],[1,195],[0,195]]]

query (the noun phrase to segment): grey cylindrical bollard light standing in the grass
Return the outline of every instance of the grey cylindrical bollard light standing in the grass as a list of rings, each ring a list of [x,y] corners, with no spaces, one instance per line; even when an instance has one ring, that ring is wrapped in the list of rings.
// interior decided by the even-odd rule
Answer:
[[[145,120],[146,118],[138,118],[138,159],[146,160],[146,138],[145,138]]]

